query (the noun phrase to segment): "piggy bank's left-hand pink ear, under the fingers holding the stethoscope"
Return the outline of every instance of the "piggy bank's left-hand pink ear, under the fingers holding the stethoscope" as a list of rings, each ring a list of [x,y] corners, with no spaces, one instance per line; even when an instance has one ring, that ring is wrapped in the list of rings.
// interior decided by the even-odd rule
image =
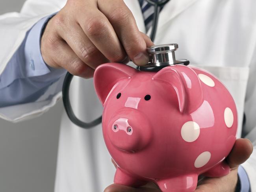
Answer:
[[[94,87],[104,104],[109,92],[120,79],[131,78],[136,70],[121,63],[106,63],[96,68],[94,73]]]

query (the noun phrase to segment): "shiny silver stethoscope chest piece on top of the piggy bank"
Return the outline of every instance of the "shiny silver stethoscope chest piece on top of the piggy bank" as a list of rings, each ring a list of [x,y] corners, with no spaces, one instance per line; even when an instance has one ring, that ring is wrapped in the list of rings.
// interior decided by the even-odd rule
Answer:
[[[189,65],[187,59],[176,59],[175,51],[178,49],[178,44],[162,44],[154,45],[147,48],[149,54],[149,62],[147,65],[140,66],[141,71],[158,71],[170,65],[183,64]]]

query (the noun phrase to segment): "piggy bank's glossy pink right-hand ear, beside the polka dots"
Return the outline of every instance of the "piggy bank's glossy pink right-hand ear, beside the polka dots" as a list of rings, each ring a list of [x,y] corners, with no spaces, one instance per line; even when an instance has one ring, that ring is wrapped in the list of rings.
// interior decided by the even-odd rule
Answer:
[[[193,69],[184,65],[174,65],[161,69],[154,80],[171,85],[178,97],[179,110],[183,113],[195,111],[203,102],[200,80]]]

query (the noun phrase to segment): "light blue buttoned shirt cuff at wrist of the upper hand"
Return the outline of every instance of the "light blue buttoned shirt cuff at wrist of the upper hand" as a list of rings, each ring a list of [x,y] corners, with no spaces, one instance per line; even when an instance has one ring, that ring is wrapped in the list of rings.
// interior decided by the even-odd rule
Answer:
[[[55,69],[48,66],[43,60],[41,54],[41,36],[45,29],[45,25],[56,13],[49,15],[48,17],[44,17],[39,20],[29,31],[28,37],[26,39],[24,54],[25,54],[25,70],[24,77],[35,77],[35,76],[43,76],[50,72],[53,72],[54,76],[52,79],[58,79],[63,75],[66,70],[64,69]],[[21,70],[22,71],[22,70]],[[50,76],[47,76],[48,80],[51,79]]]

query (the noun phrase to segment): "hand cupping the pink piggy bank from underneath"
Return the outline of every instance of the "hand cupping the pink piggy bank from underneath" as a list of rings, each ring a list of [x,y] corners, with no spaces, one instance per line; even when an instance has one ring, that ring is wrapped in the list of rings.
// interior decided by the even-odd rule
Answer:
[[[252,150],[253,146],[250,140],[243,138],[237,139],[226,159],[231,168],[230,173],[224,177],[202,177],[198,180],[198,186],[195,192],[234,192],[238,179],[238,166],[250,157]],[[104,192],[161,192],[161,190],[153,183],[148,183],[139,188],[112,184]]]

